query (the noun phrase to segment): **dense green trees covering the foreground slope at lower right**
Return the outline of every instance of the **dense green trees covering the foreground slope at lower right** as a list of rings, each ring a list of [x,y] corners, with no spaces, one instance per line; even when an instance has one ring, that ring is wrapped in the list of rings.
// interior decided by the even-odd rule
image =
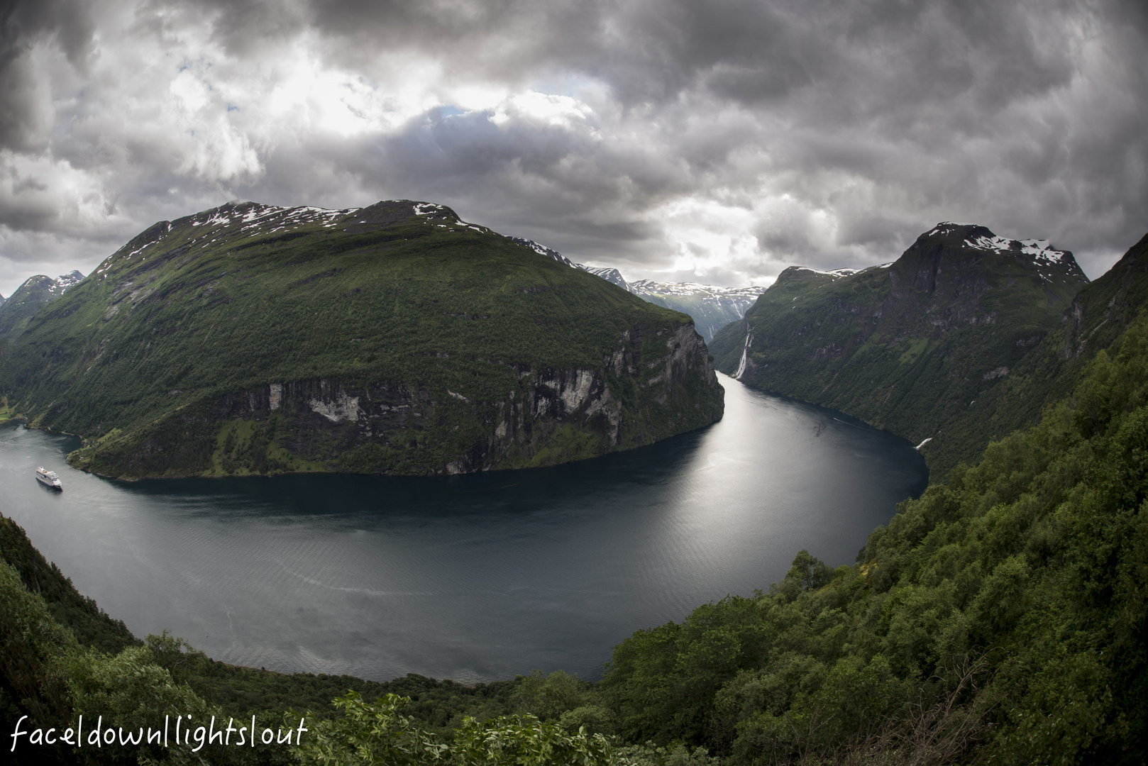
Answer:
[[[728,764],[1140,763],[1148,750],[1148,318],[1041,421],[898,508],[858,564],[620,644],[629,742]]]

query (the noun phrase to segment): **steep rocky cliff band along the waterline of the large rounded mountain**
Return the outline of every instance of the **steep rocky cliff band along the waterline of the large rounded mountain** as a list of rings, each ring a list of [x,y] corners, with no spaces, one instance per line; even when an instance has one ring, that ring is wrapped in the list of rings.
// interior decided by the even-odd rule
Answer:
[[[662,354],[649,353],[651,340],[664,346]],[[705,342],[689,324],[627,330],[600,366],[520,366],[514,376],[505,397],[491,401],[382,380],[274,382],[220,396],[204,412],[176,416],[168,427],[134,442],[131,454],[88,447],[70,459],[96,472],[149,475],[156,461],[179,449],[172,442],[200,441],[210,449],[202,471],[208,475],[471,473],[649,444],[667,432],[713,421],[724,396]],[[465,443],[452,451],[434,449],[435,432],[455,434],[463,427]]]

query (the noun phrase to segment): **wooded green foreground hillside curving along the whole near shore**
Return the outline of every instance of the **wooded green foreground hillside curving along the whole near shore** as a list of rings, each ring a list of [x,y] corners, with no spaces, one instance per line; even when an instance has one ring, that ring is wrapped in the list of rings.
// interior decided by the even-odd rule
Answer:
[[[262,728],[287,706],[351,688],[413,702],[310,707],[319,714],[309,746],[294,752],[302,763],[442,763],[451,745],[433,735],[457,727],[453,746],[476,733],[503,745],[459,763],[520,763],[526,737],[551,753],[537,763],[557,766],[575,758],[551,741],[587,741],[585,726],[618,740],[613,753],[576,759],[584,764],[1143,764],[1146,296],[1148,238],[1030,353],[1060,353],[1042,356],[1054,369],[1038,425],[901,503],[855,564],[832,568],[800,551],[768,591],[636,632],[594,688],[560,672],[473,689],[288,676],[215,663],[170,636],[141,647],[0,518],[0,720],[13,730],[20,715],[31,715],[28,729],[103,715],[131,728],[186,710],[197,721],[254,712]],[[523,718],[478,732],[461,720],[509,712]],[[42,763],[41,746],[18,745],[17,763]],[[235,749],[199,752],[236,763]],[[92,751],[48,755],[72,763]],[[192,759],[178,749],[127,758],[137,755]],[[257,748],[239,760],[281,763],[276,755]]]

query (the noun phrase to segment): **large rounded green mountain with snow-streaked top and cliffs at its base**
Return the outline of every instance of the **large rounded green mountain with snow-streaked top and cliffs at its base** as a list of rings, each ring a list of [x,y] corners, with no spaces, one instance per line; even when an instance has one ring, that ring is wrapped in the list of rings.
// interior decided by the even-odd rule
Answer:
[[[688,316],[400,200],[157,223],[8,336],[0,395],[139,478],[549,465],[704,426],[723,392]]]

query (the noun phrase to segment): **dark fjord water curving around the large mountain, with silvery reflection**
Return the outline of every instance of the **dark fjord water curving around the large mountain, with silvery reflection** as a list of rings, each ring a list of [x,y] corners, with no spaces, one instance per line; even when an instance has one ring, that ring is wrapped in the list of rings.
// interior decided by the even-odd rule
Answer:
[[[2,511],[142,636],[227,663],[386,680],[563,668],[727,594],[801,548],[854,559],[925,486],[912,444],[721,377],[724,418],[551,469],[450,478],[121,482],[69,469],[76,439],[0,427]],[[62,493],[40,486],[38,465]]]

